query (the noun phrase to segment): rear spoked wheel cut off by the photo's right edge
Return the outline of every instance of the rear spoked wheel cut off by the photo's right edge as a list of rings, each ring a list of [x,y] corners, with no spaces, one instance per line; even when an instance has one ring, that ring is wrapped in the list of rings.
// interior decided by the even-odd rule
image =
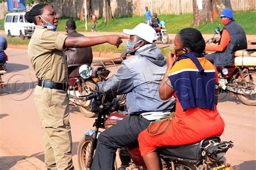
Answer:
[[[248,94],[238,94],[238,98],[242,101],[242,103],[250,106],[256,106],[256,72],[250,73],[250,77],[247,76],[245,79],[247,83],[250,81],[248,80],[250,78],[252,88],[248,89]]]

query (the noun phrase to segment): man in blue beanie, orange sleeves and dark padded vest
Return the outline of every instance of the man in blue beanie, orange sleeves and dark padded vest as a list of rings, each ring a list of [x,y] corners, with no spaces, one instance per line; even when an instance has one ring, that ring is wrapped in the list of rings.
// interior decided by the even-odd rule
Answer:
[[[235,51],[247,49],[247,40],[244,29],[234,21],[231,9],[224,9],[220,18],[224,25],[220,42],[218,45],[206,45],[205,50],[216,52],[205,55],[205,58],[216,66],[226,66],[234,63]]]

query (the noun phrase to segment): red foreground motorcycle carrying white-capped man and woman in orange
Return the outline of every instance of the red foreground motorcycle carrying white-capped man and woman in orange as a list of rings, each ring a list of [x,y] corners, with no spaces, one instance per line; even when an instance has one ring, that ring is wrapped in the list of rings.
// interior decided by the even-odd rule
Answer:
[[[120,111],[120,107],[124,104],[122,100],[118,101],[105,94],[100,94],[98,91],[81,97],[85,97],[86,100],[93,99],[92,108],[97,113],[96,121],[93,124],[95,129],[86,131],[78,144],[79,167],[88,170],[91,169],[97,138],[101,133],[99,128],[107,129],[129,115],[122,109]],[[161,159],[162,169],[228,170],[232,169],[231,165],[224,164],[220,159],[231,147],[233,147],[232,141],[221,141],[219,137],[214,136],[196,144],[159,147],[157,152]],[[118,152],[122,165],[118,168],[115,162],[114,169],[146,169],[138,143],[119,148]]]

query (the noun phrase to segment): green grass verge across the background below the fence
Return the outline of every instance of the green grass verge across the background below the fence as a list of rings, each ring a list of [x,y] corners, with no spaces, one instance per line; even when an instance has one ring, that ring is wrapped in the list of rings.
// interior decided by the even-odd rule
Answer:
[[[248,35],[256,35],[256,22],[255,21],[256,11],[248,12],[234,12],[234,19],[237,21],[244,29]],[[186,13],[183,15],[159,15],[160,20],[165,20],[166,29],[168,33],[177,33],[179,30],[187,27],[191,27],[193,22],[193,14]],[[57,31],[65,31],[65,23],[69,18],[60,18]],[[74,18],[77,31],[85,31],[85,22],[80,22],[79,19]],[[132,29],[138,23],[144,23],[144,16],[133,16],[133,17],[122,17],[113,18],[109,23],[104,23],[104,18],[99,18],[96,24],[96,31],[104,32],[122,32],[123,29]],[[88,31],[92,28],[92,23],[90,19],[87,20]],[[0,19],[0,30],[3,30],[4,20]],[[215,19],[213,23],[205,23],[196,27],[202,33],[213,33],[214,28],[223,25],[220,23],[220,19]]]

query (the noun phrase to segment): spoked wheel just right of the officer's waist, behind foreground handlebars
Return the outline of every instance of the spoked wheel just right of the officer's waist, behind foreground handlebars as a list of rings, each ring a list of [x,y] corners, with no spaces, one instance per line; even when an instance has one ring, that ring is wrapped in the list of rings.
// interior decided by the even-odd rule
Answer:
[[[86,81],[85,86],[84,86],[84,94],[83,95],[90,94],[95,89],[95,86],[96,86],[95,84]],[[83,113],[84,116],[87,118],[96,117],[96,114],[91,112],[91,109],[92,109],[91,103],[92,103],[92,100],[82,101],[81,106],[79,106],[79,111],[81,113]]]

